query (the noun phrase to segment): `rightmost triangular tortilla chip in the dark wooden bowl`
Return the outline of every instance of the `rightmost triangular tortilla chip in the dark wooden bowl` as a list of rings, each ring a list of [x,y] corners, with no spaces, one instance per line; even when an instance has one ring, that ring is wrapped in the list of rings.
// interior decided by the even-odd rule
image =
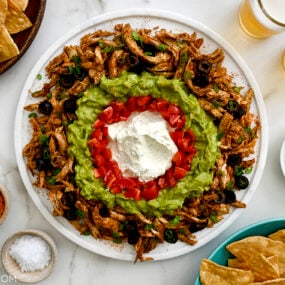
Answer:
[[[32,26],[31,21],[25,13],[15,4],[13,0],[8,0],[8,11],[5,26],[10,34],[16,34]]]

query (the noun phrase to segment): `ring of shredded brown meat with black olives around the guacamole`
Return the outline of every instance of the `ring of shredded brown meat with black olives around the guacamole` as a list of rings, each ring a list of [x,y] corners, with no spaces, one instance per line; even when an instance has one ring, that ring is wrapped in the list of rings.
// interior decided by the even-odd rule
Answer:
[[[203,54],[202,45],[195,32],[172,33],[158,27],[135,30],[129,24],[116,25],[114,31],[97,30],[83,36],[78,46],[65,46],[51,60],[46,67],[48,82],[31,94],[37,103],[25,107],[33,134],[23,154],[36,177],[34,185],[48,190],[54,215],[67,218],[82,234],[114,242],[128,240],[134,245],[135,261],[151,259],[144,254],[165,240],[193,245],[196,231],[212,227],[231,206],[246,206],[234,193],[247,187],[239,186],[237,180],[255,163],[261,126],[250,112],[254,92],[235,86],[222,65],[222,49]],[[123,71],[143,70],[184,81],[213,117],[220,139],[221,155],[210,190],[161,217],[128,214],[84,199],[75,183],[76,161],[68,155],[66,133],[76,120],[74,104],[82,92],[98,85],[102,76],[115,78]]]

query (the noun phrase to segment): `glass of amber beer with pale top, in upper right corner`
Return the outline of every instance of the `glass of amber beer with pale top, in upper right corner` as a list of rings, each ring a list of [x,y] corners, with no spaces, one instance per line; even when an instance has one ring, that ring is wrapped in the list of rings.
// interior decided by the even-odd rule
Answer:
[[[243,0],[239,9],[243,30],[255,38],[285,31],[285,0]]]

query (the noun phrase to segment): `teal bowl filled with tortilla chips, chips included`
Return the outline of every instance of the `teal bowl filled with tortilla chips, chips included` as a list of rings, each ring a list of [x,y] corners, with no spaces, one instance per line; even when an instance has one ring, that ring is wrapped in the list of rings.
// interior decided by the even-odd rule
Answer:
[[[203,258],[195,285],[285,284],[285,218],[249,225]]]

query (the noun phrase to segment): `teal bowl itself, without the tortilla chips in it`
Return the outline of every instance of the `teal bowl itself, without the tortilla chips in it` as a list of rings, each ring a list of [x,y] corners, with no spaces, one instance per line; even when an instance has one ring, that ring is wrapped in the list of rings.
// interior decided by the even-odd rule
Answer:
[[[222,244],[220,244],[208,257],[208,259],[220,265],[227,265],[228,259],[233,257],[232,254],[226,249],[226,246],[228,244],[249,236],[256,236],[256,235],[268,236],[280,229],[285,229],[285,218],[274,218],[274,219],[264,220],[246,226],[245,228],[240,229],[232,236],[227,238]],[[201,285],[199,276],[197,277],[194,285]]]

